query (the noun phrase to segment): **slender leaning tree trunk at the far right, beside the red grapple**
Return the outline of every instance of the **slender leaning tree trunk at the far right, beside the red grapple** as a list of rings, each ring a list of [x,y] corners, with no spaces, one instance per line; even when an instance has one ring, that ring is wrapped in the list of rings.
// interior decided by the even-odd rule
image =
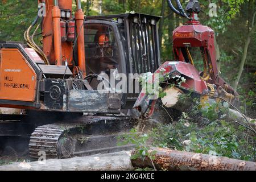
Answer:
[[[248,51],[248,48],[249,48],[249,45],[250,45],[250,42],[251,42],[251,36],[253,35],[253,32],[254,32],[255,15],[256,15],[256,11],[253,14],[253,19],[251,21],[251,28],[250,28],[249,33],[247,35],[245,46],[243,47],[243,56],[242,56],[242,60],[241,60],[240,66],[239,66],[239,71],[238,71],[236,81],[234,82],[234,86],[233,86],[234,90],[237,90],[238,83],[239,83],[240,78],[242,76],[243,67],[245,65],[245,61],[246,61],[246,57],[247,57],[247,51]]]

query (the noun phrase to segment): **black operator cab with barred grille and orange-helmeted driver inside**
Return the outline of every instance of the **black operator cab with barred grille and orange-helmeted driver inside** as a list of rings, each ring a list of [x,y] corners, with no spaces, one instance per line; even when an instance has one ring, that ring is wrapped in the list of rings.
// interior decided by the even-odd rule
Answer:
[[[159,16],[119,14],[86,16],[84,22],[86,73],[97,89],[97,75],[154,73],[160,66]],[[77,48],[75,62],[77,64]],[[96,75],[93,76],[92,75]],[[117,84],[117,82],[115,82]],[[127,84],[127,90],[129,85]],[[122,95],[122,109],[131,109],[138,93]]]

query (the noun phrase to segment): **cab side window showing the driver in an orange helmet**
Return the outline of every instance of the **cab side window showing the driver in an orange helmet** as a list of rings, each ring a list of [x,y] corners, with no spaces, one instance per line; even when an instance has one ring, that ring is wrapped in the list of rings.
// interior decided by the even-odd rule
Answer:
[[[110,74],[118,69],[119,52],[113,28],[106,24],[85,24],[85,57],[88,74]]]

